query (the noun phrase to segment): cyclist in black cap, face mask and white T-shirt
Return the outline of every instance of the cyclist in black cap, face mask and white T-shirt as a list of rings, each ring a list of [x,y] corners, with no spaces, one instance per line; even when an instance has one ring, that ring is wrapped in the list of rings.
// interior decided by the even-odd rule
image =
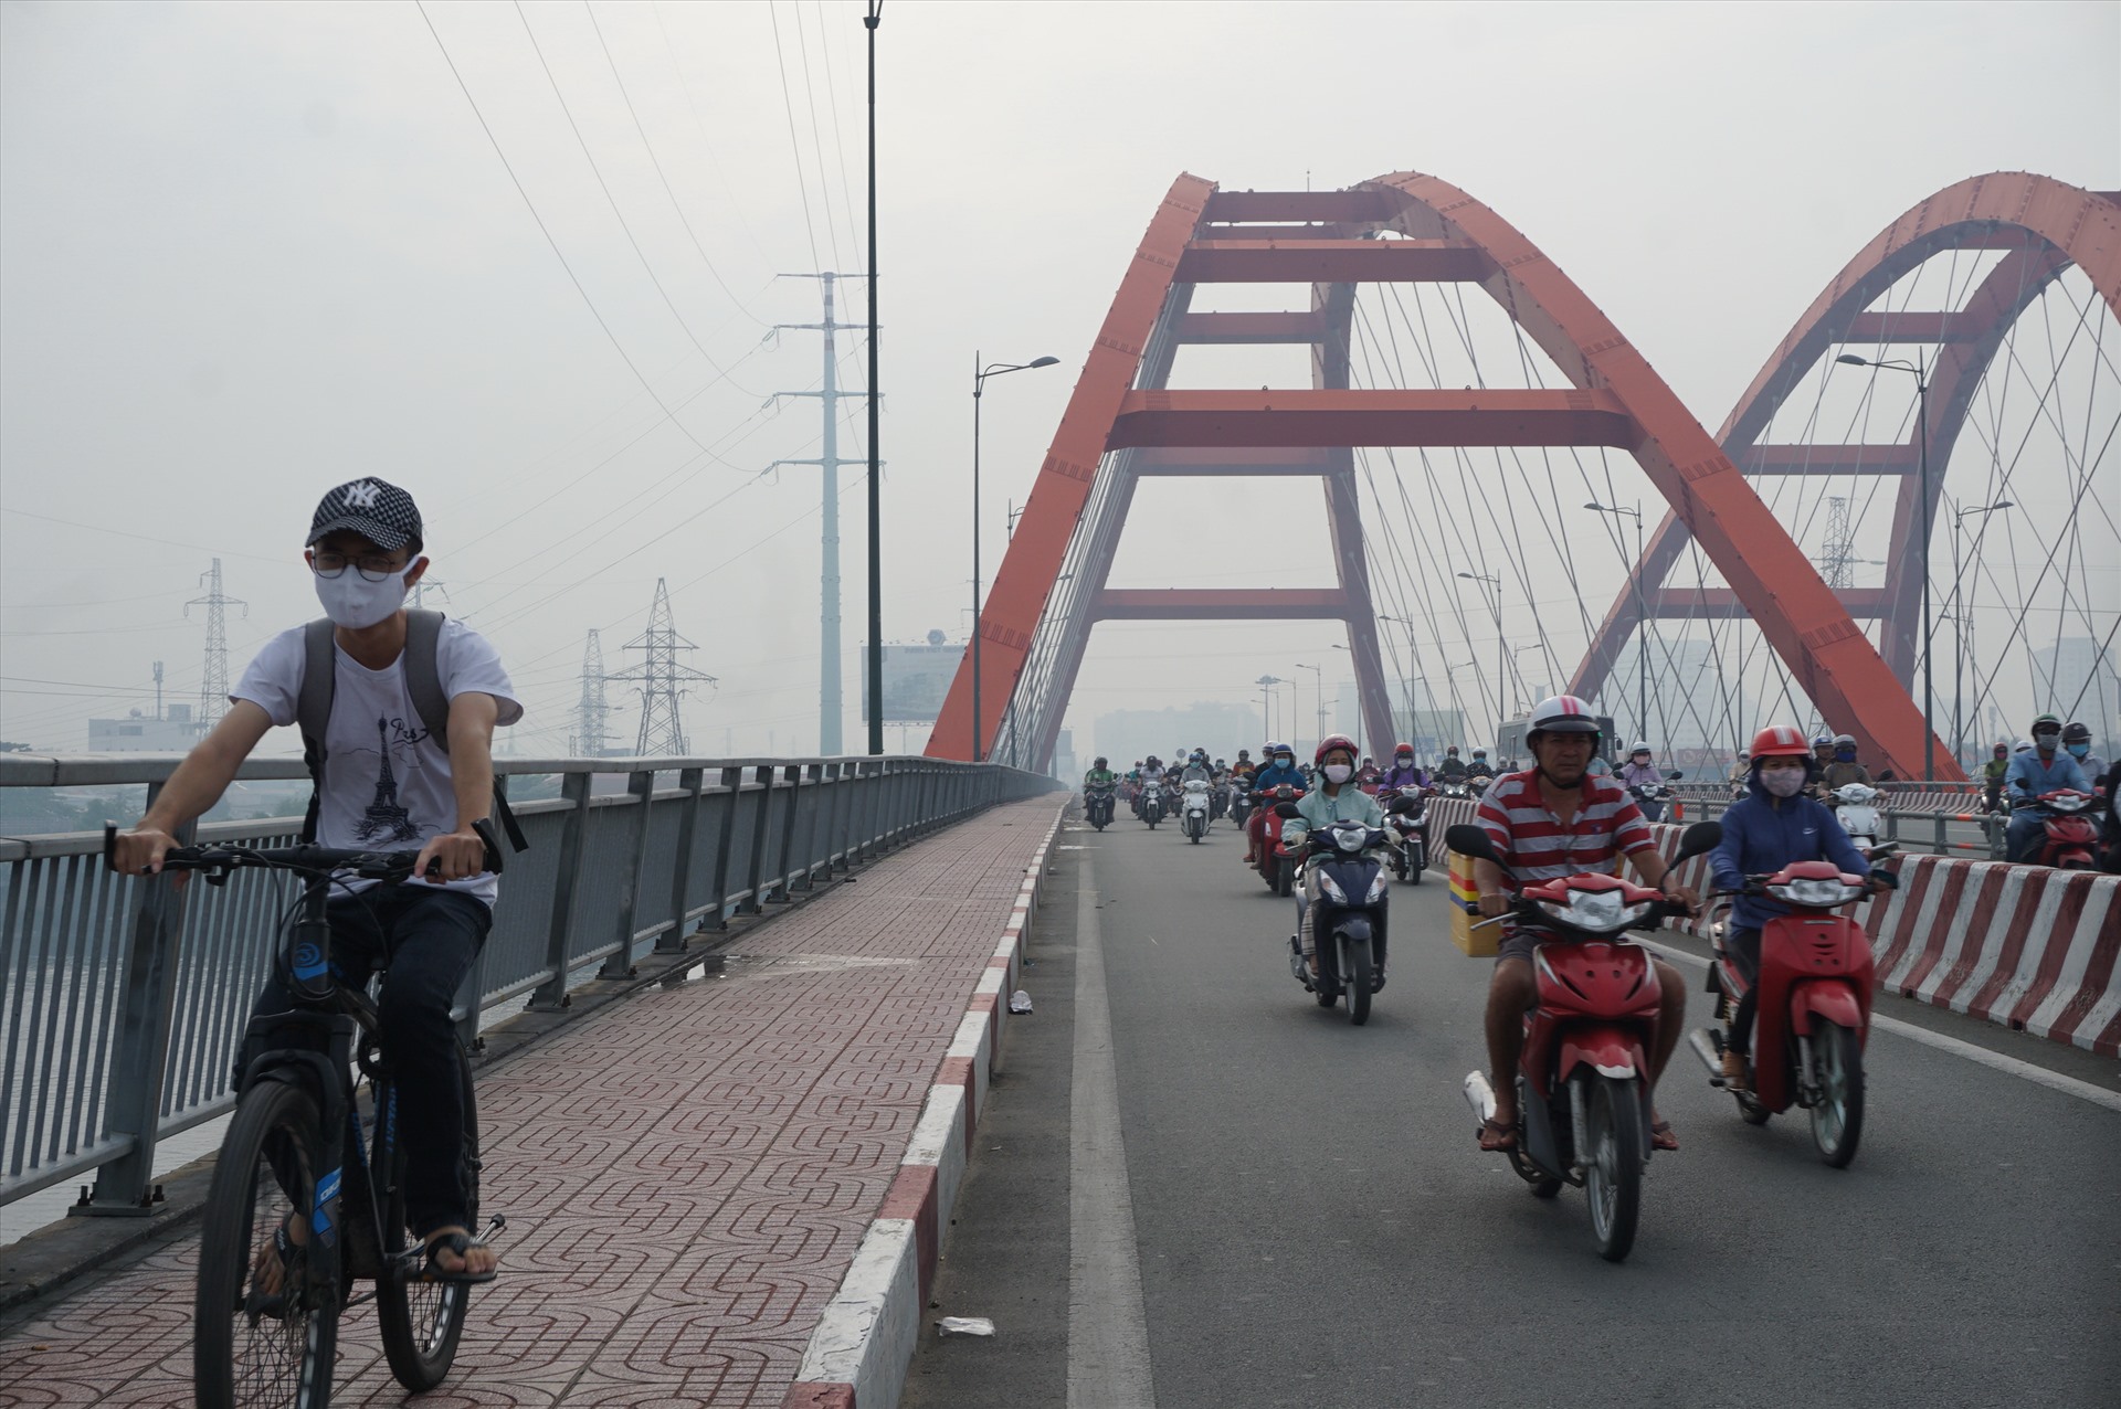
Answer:
[[[316,778],[305,839],[327,848],[418,848],[414,879],[403,886],[380,892],[373,881],[341,884],[329,907],[333,964],[356,977],[390,973],[380,1032],[399,1074],[407,1223],[426,1244],[426,1278],[484,1282],[496,1259],[469,1227],[450,1009],[492,928],[498,892],[473,828],[494,805],[494,727],[513,725],[524,710],[486,638],[441,621],[431,665],[448,699],[448,735],[437,739],[424,727],[407,665],[428,663],[405,659],[405,593],[428,559],[420,511],[405,489],[380,479],[339,485],[316,506],[305,542],[303,559],[331,621],[329,693],[318,695],[316,682],[303,689],[310,627],[265,642],[229,691],[229,712],[185,756],[146,816],[119,835],[112,867],[132,875],[161,871],[176,833],[221,799],[265,731],[297,723],[310,699],[329,699],[322,737],[303,739]],[[276,975],[252,1013],[291,1006]],[[250,1055],[238,1057],[238,1081]],[[299,1244],[308,1229],[291,1220],[278,1237]]]

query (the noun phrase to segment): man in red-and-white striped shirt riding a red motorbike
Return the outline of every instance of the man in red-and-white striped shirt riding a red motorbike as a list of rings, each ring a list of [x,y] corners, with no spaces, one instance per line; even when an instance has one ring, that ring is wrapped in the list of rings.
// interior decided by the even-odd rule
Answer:
[[[1599,723],[1582,699],[1555,695],[1533,706],[1527,718],[1525,746],[1533,767],[1500,778],[1480,799],[1474,814],[1502,864],[1474,860],[1472,877],[1480,894],[1480,913],[1510,913],[1510,900],[1529,884],[1550,881],[1580,871],[1616,871],[1625,854],[1644,886],[1663,890],[1688,909],[1699,898],[1678,886],[1642,809],[1612,778],[1591,775],[1591,756],[1599,746]],[[1523,1049],[1525,1011],[1538,1000],[1531,958],[1540,947],[1538,932],[1506,922],[1495,951],[1495,975],[1487,989],[1487,1055],[1493,1068],[1495,1114],[1480,1127],[1483,1151],[1506,1151],[1517,1144],[1517,1055]],[[1661,989],[1657,1051],[1650,1053],[1650,1083],[1665,1072],[1671,1049],[1680,1040],[1686,1017],[1686,983],[1680,970],[1654,960]],[[1671,1125],[1650,1112],[1650,1142],[1661,1151],[1680,1148]]]

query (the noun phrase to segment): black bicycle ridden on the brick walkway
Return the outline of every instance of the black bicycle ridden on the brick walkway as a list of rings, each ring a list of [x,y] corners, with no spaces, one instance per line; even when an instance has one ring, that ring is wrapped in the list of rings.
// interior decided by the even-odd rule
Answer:
[[[498,873],[501,850],[484,822],[479,837],[486,867]],[[106,860],[115,845],[117,826],[104,826]],[[201,1216],[191,1365],[195,1401],[206,1409],[327,1409],[339,1314],[367,1301],[375,1303],[384,1356],[401,1386],[433,1390],[456,1360],[471,1284],[422,1276],[426,1248],[405,1220],[397,1087],[378,1038],[369,975],[348,981],[333,970],[325,917],[331,888],[344,877],[401,884],[416,858],[320,845],[191,845],[163,860],[168,871],[204,873],[208,886],[225,886],[240,869],[303,877],[274,953],[293,1009],[250,1019],[246,1049],[257,1055],[240,1072],[235,1119]],[[477,1227],[479,1121],[462,1045],[456,1070],[464,1102],[458,1176],[467,1227]],[[503,1227],[507,1218],[496,1214],[479,1237]],[[263,1286],[261,1273],[274,1265],[278,1286]],[[363,1280],[375,1288],[354,1295]]]

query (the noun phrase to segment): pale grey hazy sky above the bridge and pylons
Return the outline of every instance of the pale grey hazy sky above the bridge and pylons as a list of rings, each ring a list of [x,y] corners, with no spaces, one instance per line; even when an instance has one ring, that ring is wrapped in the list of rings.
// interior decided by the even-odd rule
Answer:
[[[0,737],[83,748],[89,714],[151,703],[155,659],[193,699],[204,629],[182,604],[214,555],[250,604],[240,672],[316,614],[299,547],[318,494],[380,475],[426,511],[439,604],[513,667],[522,752],[564,750],[585,629],[624,665],[658,576],[689,663],[719,676],[685,706],[696,750],[814,748],[817,472],[766,466],[819,453],[814,400],[768,407],[817,386],[817,335],[772,324],[819,305],[774,275],[863,263],[859,17],[0,4]],[[1181,170],[1258,189],[1436,172],[1561,263],[1710,428],[1924,195],[1989,170],[2121,186],[2115,4],[891,0],[878,70],[891,640],[967,621],[976,350],[1063,362],[988,386],[991,578]],[[859,384],[857,341],[842,352]],[[853,653],[859,470],[842,489]],[[1268,511],[1292,559],[1217,576]],[[1154,485],[1150,519],[1116,583],[1326,581],[1309,485]],[[1614,583],[1618,564],[1593,612]],[[1105,627],[1073,723],[1256,699],[1247,680],[1330,640]]]

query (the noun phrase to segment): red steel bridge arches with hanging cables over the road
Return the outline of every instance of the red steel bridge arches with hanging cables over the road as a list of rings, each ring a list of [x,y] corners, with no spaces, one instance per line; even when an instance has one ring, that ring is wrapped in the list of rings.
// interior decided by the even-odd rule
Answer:
[[[1309,299],[1205,307],[1215,286],[1247,284]],[[1900,778],[1930,759],[1962,778],[1968,739],[1996,720],[2021,731],[2030,703],[2121,712],[2117,316],[2113,193],[1964,180],[1864,246],[1710,434],[1559,265],[1457,186],[1393,174],[1222,191],[1179,176],[980,614],[980,737],[988,756],[1046,767],[1099,621],[1321,619],[1347,629],[1379,750],[1421,695],[1476,733],[1527,699],[1527,678],[1637,720],[1635,680],[1654,672],[1642,731],[1684,725],[1729,748],[1760,718],[1801,718],[1854,733]],[[1309,350],[1309,386],[1173,388],[1196,345]],[[1109,587],[1150,477],[1317,481],[1334,585]],[[1640,555],[1642,532],[1578,509],[1625,504],[1629,479],[1665,502]],[[1438,513],[1468,498],[1506,513]],[[1924,561],[1932,674],[1949,661],[1934,735],[1917,672]],[[1877,576],[1862,568],[1881,578],[1858,583]],[[1381,621],[1404,631],[1381,642]],[[1542,655],[1538,676],[1504,636]],[[2089,672],[2070,663],[2085,642]],[[969,672],[967,653],[929,754],[971,752]]]

